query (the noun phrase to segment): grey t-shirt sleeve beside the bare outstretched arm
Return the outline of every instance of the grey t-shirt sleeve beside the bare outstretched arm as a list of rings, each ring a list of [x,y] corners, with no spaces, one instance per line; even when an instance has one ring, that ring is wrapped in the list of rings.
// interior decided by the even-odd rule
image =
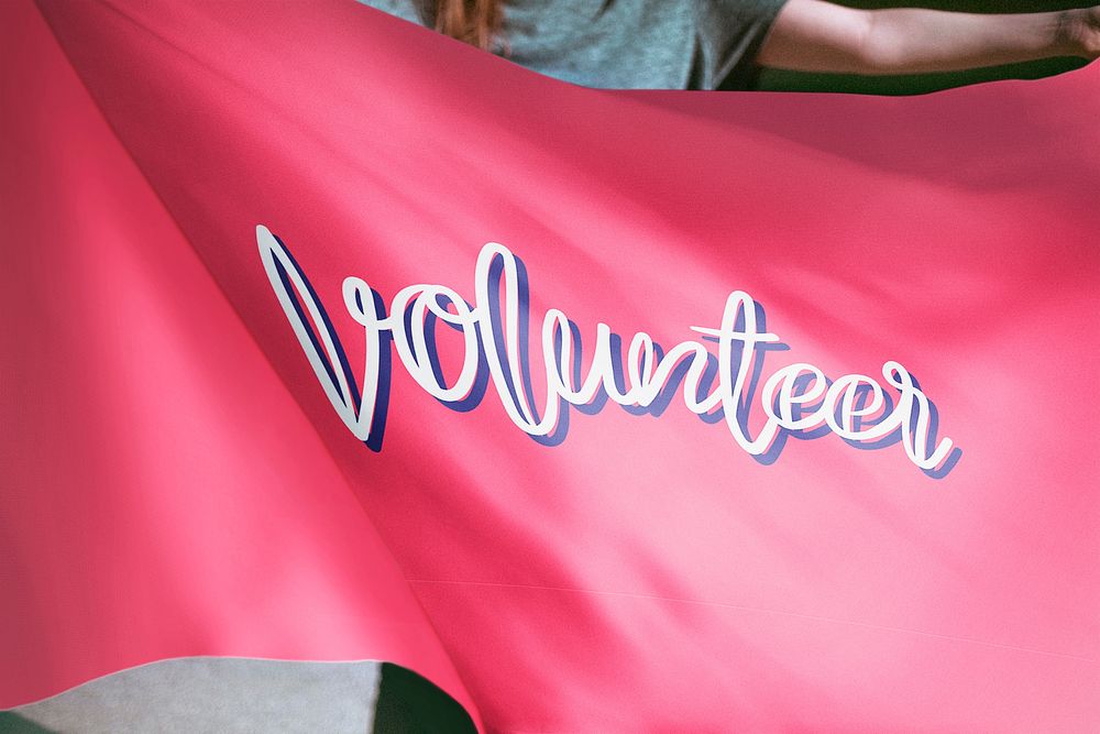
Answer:
[[[757,56],[787,0],[696,0],[694,83],[701,89],[752,89]]]

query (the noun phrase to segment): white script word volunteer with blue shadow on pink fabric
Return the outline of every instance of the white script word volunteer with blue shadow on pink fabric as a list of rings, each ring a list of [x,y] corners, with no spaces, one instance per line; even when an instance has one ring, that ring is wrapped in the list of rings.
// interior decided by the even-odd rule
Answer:
[[[380,410],[385,412],[380,405],[380,385],[388,380],[383,374],[383,364],[389,362],[384,360],[384,350],[392,340],[413,380],[447,404],[466,401],[476,390],[479,374],[487,370],[507,416],[536,438],[553,435],[569,405],[590,406],[606,396],[625,407],[652,408],[668,395],[670,380],[680,371],[686,408],[700,416],[721,410],[737,446],[754,457],[776,450],[784,434],[811,431],[833,432],[857,446],[884,445],[894,437],[909,459],[926,472],[944,467],[958,452],[949,438],[935,441],[934,406],[909,371],[893,361],[882,365],[882,377],[897,397],[888,397],[882,384],[862,374],[831,381],[812,364],[777,370],[760,390],[759,408],[765,419],[754,436],[748,416],[754,407],[756,371],[767,346],[778,342],[779,337],[762,330],[758,305],[743,291],[726,298],[717,328],[691,327],[717,342],[716,380],[714,355],[703,343],[683,341],[662,352],[648,333],[638,332],[624,359],[622,350],[613,348],[614,335],[605,324],[596,326],[593,357],[582,379],[576,364],[581,344],[574,343],[574,327],[564,313],[549,309],[540,331],[546,375],[540,415],[532,397],[535,385],[525,369],[529,353],[521,325],[526,324],[528,299],[522,266],[516,255],[495,242],[485,244],[477,258],[473,306],[451,288],[419,284],[399,291],[387,315],[365,281],[344,280],[344,307],[362,327],[366,342],[356,384],[305,274],[266,227],[256,228],[256,240],[272,287],[326,396],[361,441],[377,438],[373,436],[376,419]],[[450,385],[438,369],[431,331],[436,320],[462,335],[462,364]],[[388,393],[383,399],[388,399]]]

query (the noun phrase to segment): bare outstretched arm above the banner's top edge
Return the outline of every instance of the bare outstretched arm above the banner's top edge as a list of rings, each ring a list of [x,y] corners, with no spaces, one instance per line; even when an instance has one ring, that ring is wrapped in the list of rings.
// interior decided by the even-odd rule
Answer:
[[[758,63],[796,72],[924,74],[1050,56],[1100,56],[1100,6],[986,15],[789,0]]]

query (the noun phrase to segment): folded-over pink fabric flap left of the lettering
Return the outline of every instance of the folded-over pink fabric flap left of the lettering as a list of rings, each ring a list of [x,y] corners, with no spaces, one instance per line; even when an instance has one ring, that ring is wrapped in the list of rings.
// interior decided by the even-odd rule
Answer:
[[[0,12],[0,706],[195,655],[394,660],[462,698],[339,468],[38,11]]]

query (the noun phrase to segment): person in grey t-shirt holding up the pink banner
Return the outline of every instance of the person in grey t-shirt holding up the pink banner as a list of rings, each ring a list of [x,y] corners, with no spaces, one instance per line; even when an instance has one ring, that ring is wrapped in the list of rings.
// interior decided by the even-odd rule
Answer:
[[[363,1],[605,88],[752,89],[761,67],[893,76],[1100,54],[1100,7],[982,14],[825,0]]]

